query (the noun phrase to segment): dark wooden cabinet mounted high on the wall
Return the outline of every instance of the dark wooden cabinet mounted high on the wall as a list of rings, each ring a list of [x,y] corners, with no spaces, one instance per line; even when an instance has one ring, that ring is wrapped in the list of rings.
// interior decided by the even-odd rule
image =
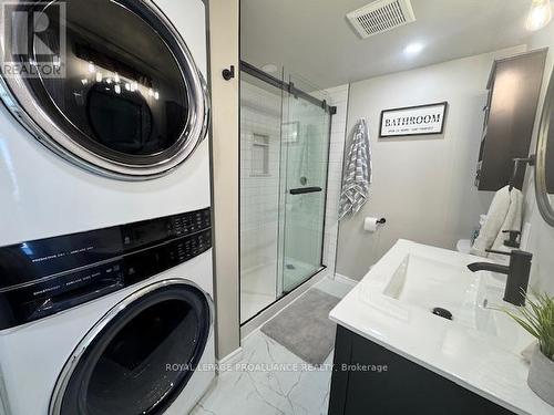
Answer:
[[[475,186],[496,191],[509,184],[513,159],[527,157],[547,49],[494,61],[486,89]],[[514,186],[522,188],[525,169]]]

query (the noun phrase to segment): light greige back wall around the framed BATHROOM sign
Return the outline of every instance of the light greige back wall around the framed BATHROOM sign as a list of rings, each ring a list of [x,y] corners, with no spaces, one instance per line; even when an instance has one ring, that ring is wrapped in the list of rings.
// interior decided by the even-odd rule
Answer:
[[[369,201],[340,222],[337,273],[362,278],[399,239],[453,249],[469,239],[491,193],[473,185],[486,81],[493,60],[525,46],[369,79],[350,85],[348,139],[360,117],[368,121],[373,153]],[[437,136],[378,139],[382,110],[448,101],[445,131]],[[348,148],[348,143],[347,143]],[[377,234],[363,217],[386,217]]]

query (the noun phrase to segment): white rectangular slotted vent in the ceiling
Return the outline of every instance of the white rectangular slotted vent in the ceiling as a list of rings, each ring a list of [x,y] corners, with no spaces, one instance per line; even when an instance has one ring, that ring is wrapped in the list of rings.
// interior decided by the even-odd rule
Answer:
[[[348,20],[366,39],[416,21],[410,0],[378,0],[347,14]]]

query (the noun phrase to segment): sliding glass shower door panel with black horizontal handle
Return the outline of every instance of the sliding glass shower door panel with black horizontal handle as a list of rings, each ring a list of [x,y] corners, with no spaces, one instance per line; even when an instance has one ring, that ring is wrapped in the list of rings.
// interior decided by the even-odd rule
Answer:
[[[290,84],[325,100],[311,85]],[[284,96],[281,129],[281,287],[286,294],[322,268],[330,114],[310,96]],[[325,102],[325,101],[324,101]]]

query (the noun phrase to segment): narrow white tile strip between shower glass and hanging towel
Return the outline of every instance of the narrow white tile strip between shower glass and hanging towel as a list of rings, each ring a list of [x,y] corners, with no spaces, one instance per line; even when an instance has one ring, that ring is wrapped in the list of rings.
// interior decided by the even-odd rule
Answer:
[[[346,125],[348,112],[349,85],[328,89],[331,105],[337,114],[331,118],[331,145],[329,151],[329,176],[327,185],[327,209],[325,216],[324,264],[330,276],[335,274],[337,257],[339,197],[342,181],[342,164],[345,158]]]

